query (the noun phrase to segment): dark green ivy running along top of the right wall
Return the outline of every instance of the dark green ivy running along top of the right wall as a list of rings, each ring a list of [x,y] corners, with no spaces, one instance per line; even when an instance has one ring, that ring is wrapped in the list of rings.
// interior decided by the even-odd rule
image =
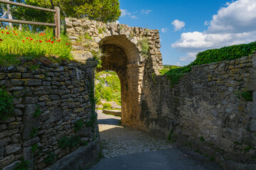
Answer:
[[[209,64],[212,62],[220,62],[223,60],[235,60],[240,57],[251,55],[256,50],[256,42],[242,45],[232,45],[229,47],[222,47],[220,49],[206,50],[204,52],[198,52],[196,60],[184,67],[170,68],[169,71],[164,69],[160,70],[161,74],[166,74],[171,82],[171,88],[174,84],[178,83],[178,80],[183,74],[191,72],[191,67],[201,64]]]

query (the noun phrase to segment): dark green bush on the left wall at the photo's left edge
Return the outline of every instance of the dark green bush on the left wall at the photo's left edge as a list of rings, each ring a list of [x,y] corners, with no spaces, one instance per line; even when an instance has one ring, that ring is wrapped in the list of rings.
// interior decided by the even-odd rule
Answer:
[[[0,88],[0,120],[6,120],[14,115],[14,96]]]

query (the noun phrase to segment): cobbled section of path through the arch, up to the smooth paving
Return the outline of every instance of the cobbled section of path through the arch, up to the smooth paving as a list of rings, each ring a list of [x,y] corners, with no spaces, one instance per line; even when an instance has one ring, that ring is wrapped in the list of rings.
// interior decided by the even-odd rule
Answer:
[[[139,130],[124,128],[119,125],[120,119],[117,116],[105,115],[98,111],[100,141],[104,157],[111,158],[172,148],[170,142],[166,140],[156,139]]]

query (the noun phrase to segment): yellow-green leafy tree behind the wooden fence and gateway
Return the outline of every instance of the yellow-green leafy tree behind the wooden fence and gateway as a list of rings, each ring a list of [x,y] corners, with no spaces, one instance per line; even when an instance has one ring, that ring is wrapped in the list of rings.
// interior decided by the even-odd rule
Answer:
[[[117,21],[121,16],[119,0],[23,0],[25,4],[43,8],[60,7],[60,18],[90,18],[96,21]],[[38,22],[53,22],[53,13],[35,11],[30,8],[14,7],[13,15],[20,19]]]

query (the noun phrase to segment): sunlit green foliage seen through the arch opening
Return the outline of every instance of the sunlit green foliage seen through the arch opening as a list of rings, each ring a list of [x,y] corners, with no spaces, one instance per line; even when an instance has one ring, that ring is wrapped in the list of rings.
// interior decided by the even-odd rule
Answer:
[[[108,74],[107,77],[100,77],[102,74]],[[95,97],[99,99],[106,99],[107,101],[115,101],[121,105],[121,85],[119,78],[115,72],[102,71],[96,74],[95,80]],[[109,86],[105,86],[105,82]]]

